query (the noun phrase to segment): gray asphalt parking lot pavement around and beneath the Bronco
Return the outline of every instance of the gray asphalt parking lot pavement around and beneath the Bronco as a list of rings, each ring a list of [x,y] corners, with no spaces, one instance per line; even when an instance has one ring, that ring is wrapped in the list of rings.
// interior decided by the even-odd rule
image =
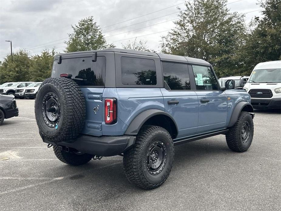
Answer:
[[[0,210],[278,210],[281,207],[281,115],[255,111],[252,146],[228,149],[219,135],[175,147],[167,181],[146,191],[131,185],[122,157],[72,167],[40,139],[34,100],[0,126]]]

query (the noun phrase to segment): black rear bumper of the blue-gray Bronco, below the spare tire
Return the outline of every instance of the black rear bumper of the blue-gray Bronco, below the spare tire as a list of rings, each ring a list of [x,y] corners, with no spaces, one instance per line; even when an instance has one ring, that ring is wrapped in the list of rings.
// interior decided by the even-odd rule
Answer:
[[[114,156],[125,152],[135,144],[135,136],[89,136],[81,135],[73,142],[52,143],[45,138],[43,142],[55,146],[70,147],[79,152],[97,156]]]

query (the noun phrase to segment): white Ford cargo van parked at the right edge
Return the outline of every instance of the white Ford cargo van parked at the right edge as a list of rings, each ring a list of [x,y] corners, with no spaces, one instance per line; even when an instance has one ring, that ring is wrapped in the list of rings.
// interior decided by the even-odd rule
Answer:
[[[255,109],[281,109],[281,61],[257,64],[244,89]]]

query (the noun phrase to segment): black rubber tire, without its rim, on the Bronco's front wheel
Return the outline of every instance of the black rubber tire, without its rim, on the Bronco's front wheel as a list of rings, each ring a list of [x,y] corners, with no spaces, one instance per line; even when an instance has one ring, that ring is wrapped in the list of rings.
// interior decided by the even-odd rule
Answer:
[[[241,137],[241,131],[243,128],[243,124],[246,121],[249,123],[250,134],[249,134],[248,141],[246,143],[243,143]],[[239,114],[237,122],[229,129],[228,133],[226,133],[225,135],[226,143],[229,149],[235,152],[245,152],[246,150],[248,150],[248,148],[252,144],[253,136],[254,136],[253,119],[252,116],[246,111],[242,111]]]

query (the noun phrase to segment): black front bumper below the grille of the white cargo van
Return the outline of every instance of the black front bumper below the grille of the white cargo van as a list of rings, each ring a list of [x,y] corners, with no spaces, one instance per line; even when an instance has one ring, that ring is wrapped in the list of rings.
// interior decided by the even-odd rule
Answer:
[[[251,104],[254,109],[280,109],[281,98],[273,99],[251,99]]]

